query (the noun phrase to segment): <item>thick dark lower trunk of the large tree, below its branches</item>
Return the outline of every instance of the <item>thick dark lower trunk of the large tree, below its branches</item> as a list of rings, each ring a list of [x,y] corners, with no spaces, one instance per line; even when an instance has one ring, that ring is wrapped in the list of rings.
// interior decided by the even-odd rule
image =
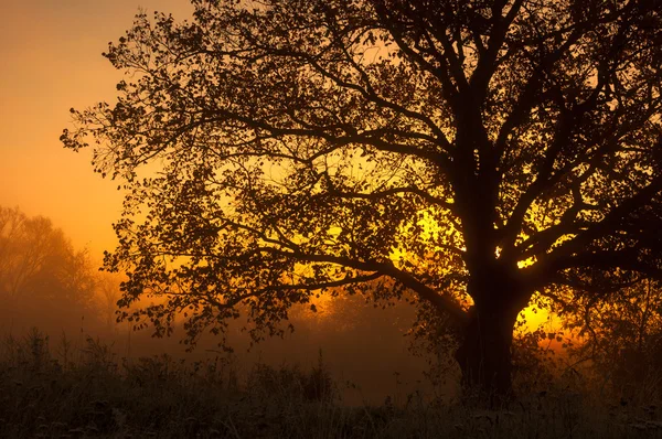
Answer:
[[[513,329],[520,312],[526,307],[530,295],[508,282],[490,285],[493,278],[483,279],[470,290],[474,306],[465,326],[463,340],[456,352],[462,371],[465,390],[477,389],[490,404],[513,396],[512,355]],[[503,285],[502,285],[503,286]],[[481,291],[476,291],[480,288]]]

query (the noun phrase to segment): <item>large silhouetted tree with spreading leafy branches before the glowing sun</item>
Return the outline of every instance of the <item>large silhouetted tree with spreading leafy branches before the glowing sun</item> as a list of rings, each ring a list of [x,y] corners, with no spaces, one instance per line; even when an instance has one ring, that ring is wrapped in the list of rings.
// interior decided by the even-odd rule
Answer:
[[[458,330],[465,381],[508,393],[534,292],[660,274],[660,1],[192,3],[137,17],[106,54],[117,103],[62,137],[124,179],[107,264],[122,304],[162,297],[159,333],[408,291]]]

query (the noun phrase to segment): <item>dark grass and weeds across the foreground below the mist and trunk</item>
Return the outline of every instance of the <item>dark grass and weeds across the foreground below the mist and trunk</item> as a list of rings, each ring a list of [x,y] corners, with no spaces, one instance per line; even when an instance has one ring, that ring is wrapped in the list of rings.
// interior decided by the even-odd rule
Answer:
[[[549,388],[500,410],[420,394],[348,407],[317,366],[126,361],[87,339],[55,349],[36,330],[0,349],[0,437],[7,438],[662,438],[650,401],[610,403]]]

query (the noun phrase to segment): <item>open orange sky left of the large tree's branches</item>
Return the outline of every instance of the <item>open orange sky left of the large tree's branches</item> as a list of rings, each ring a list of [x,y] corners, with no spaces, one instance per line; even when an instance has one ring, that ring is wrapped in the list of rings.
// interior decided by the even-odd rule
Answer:
[[[113,101],[122,73],[102,56],[145,9],[191,13],[188,0],[0,0],[0,205],[53,220],[76,248],[115,248],[117,183],[92,151],[65,150],[68,109]]]

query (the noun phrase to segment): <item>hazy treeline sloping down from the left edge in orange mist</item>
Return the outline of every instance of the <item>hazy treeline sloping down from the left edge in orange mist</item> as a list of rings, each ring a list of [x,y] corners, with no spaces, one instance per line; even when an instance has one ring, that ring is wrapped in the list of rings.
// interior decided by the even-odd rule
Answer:
[[[0,206],[2,330],[68,332],[82,321],[111,329],[119,282],[119,276],[98,271],[89,251],[75,248],[51,220]]]

